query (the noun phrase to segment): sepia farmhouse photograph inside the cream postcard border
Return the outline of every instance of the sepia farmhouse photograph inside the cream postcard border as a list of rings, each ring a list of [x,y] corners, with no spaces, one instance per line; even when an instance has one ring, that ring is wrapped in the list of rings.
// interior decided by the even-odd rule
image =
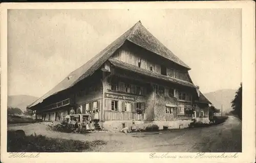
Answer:
[[[236,158],[242,60],[241,8],[8,9],[7,152]]]

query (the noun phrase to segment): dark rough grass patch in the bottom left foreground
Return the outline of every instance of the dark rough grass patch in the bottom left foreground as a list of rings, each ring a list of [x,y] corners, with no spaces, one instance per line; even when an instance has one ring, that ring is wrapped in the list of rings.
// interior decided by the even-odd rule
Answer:
[[[26,136],[25,133],[16,131],[7,133],[7,152],[84,152],[91,151],[93,147],[99,145],[106,145],[106,142],[101,140],[82,142],[36,134]]]

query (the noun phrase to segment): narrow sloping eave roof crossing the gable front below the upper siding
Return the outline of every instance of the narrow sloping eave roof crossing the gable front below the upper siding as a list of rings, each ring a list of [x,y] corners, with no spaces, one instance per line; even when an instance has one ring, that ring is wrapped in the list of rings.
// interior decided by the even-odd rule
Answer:
[[[152,72],[152,71],[149,71],[147,69],[143,69],[143,68],[140,68],[138,66],[135,66],[135,65],[132,65],[132,64],[129,64],[129,63],[125,63],[125,62],[122,62],[122,61],[119,61],[119,60],[116,60],[116,59],[109,59],[109,61],[114,66],[125,69],[127,71],[136,72],[136,73],[139,73],[139,74],[142,74],[142,75],[151,76],[151,77],[154,77],[154,78],[157,78],[157,79],[161,79],[161,80],[165,80],[165,81],[168,81],[168,82],[181,84],[181,85],[184,85],[184,86],[196,87],[194,84],[192,84],[190,82],[180,80],[180,79],[176,79],[176,78],[172,78],[172,77],[168,77],[168,76],[164,76],[164,75],[158,74],[156,72]]]

